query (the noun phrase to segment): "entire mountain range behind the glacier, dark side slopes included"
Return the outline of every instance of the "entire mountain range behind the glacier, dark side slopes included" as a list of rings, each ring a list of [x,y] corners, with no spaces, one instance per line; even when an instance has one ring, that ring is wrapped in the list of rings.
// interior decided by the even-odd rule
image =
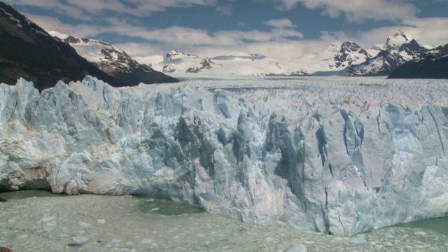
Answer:
[[[448,72],[447,45],[430,50],[402,31],[368,50],[345,41],[302,59],[279,60],[261,54],[207,57],[172,50],[160,57],[161,62],[140,64],[110,43],[47,32],[0,2],[0,35],[0,81],[13,85],[23,77],[33,81],[38,90],[57,80],[82,80],[85,75],[120,87],[179,81],[164,73],[446,78]],[[405,62],[409,63],[399,68]],[[395,69],[399,73],[394,73]]]

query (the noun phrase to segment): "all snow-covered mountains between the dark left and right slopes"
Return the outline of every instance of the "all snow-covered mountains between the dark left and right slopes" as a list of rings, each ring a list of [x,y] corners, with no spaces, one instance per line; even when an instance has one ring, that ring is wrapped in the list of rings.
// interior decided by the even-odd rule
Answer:
[[[138,64],[123,50],[109,43],[74,38],[66,34],[52,32],[70,43],[80,55],[100,69],[120,76],[132,69],[151,71],[150,67]],[[165,73],[205,73],[214,75],[253,76],[387,76],[400,64],[414,59],[427,50],[413,38],[397,31],[384,44],[374,45],[364,50],[358,44],[346,41],[342,45],[329,45],[320,54],[304,55],[300,59],[279,60],[260,54],[222,55],[206,57],[187,54],[178,50],[160,56],[163,60],[152,62],[151,67]]]

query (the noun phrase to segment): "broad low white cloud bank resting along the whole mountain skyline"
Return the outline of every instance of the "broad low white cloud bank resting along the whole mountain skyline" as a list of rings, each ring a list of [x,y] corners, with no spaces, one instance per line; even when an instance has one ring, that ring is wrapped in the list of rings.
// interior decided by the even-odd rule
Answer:
[[[141,38],[144,41],[142,43],[123,43],[118,46],[143,63],[155,62],[158,58],[153,57],[154,55],[165,55],[165,52],[173,49],[209,57],[261,53],[277,59],[313,58],[313,53],[323,52],[331,43],[352,41],[365,49],[371,48],[374,44],[384,43],[398,29],[414,37],[421,45],[438,46],[448,43],[448,33],[442,32],[448,27],[448,18],[413,18],[407,20],[405,25],[380,27],[352,34],[324,31],[320,38],[309,40],[303,39],[300,31],[288,27],[293,24],[289,25],[287,21],[283,25],[272,26],[270,31],[254,29],[210,32],[179,26],[149,29],[119,18],[109,18],[109,25],[106,26],[68,25],[57,18],[28,13],[25,15],[46,30],[57,30],[73,36],[92,38],[107,32],[117,36]]]

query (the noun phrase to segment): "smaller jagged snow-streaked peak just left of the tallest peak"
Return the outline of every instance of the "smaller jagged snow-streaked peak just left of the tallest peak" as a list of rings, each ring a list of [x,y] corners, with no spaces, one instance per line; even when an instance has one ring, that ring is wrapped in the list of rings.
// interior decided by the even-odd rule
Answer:
[[[334,47],[327,48],[327,50],[334,50]],[[330,69],[345,69],[351,64],[360,64],[370,59],[372,56],[367,53],[356,43],[344,42],[339,50],[337,50],[335,57],[328,62]]]

